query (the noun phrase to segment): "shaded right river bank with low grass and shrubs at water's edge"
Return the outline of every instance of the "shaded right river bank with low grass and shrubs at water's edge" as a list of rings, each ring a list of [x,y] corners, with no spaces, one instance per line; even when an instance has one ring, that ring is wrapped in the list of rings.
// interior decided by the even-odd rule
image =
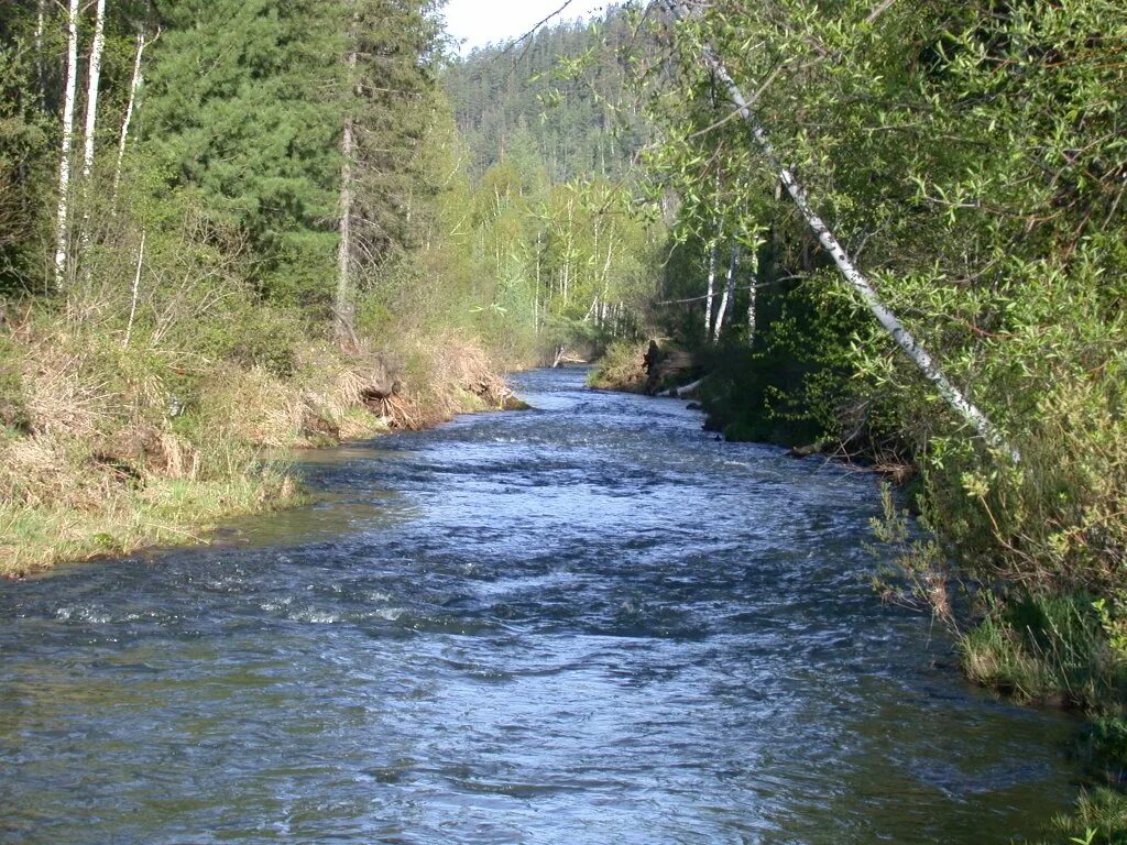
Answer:
[[[1030,586],[1015,573],[1000,576],[1001,567],[991,570],[991,540],[1000,553],[1013,548],[1001,549],[996,533],[967,548],[959,542],[966,528],[949,527],[948,519],[976,504],[973,480],[964,478],[952,491],[949,473],[864,427],[835,436],[801,412],[764,413],[763,397],[742,392],[742,361],[731,350],[693,355],[666,344],[621,344],[607,350],[589,384],[657,394],[692,382],[686,395],[699,400],[704,427],[728,442],[772,444],[795,457],[823,455],[882,475],[884,513],[872,528],[893,551],[893,566],[875,578],[878,592],[932,614],[948,629],[952,657],[975,684],[1017,704],[1083,713],[1086,724],[1073,740],[1073,754],[1086,789],[1075,813],[1055,819],[1056,829],[1086,845],[1127,840],[1127,639],[1117,581],[1093,587],[1079,578],[1047,578]],[[960,495],[969,497],[969,506],[952,504]],[[985,496],[980,504],[988,514]],[[1044,575],[1054,566],[1021,553],[1027,571]],[[986,586],[983,572],[991,571]]]

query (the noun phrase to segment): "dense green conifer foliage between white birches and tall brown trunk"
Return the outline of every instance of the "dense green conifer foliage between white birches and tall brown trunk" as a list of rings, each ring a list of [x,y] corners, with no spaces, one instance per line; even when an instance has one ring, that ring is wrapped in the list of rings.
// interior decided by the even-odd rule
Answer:
[[[264,293],[326,299],[337,243],[345,3],[180,0],[163,16],[143,142],[168,187],[196,188],[213,225],[245,232]]]

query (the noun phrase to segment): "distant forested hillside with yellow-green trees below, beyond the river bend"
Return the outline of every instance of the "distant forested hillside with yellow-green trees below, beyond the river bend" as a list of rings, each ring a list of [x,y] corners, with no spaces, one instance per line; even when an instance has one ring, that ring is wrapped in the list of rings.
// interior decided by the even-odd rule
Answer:
[[[638,204],[638,98],[621,12],[474,51],[443,75],[474,186],[469,221],[494,303],[531,315],[559,361],[640,330],[664,226]]]

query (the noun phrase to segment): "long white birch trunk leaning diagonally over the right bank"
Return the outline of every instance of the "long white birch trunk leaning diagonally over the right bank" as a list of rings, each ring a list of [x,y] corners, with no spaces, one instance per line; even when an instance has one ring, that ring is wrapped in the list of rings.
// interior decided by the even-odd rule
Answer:
[[[686,7],[681,0],[666,0],[666,5],[678,20],[684,20],[689,17]],[[747,104],[747,99],[744,97],[739,86],[731,78],[731,74],[728,73],[728,69],[724,62],[720,61],[719,56],[708,45],[702,46],[702,53],[706,65],[725,86],[733,105],[736,106],[740,117],[749,126],[760,152],[763,153],[763,157],[775,171],[787,193],[790,194],[791,199],[798,206],[807,225],[817,237],[818,243],[833,258],[834,264],[837,265],[837,269],[845,281],[860,294],[861,300],[869,308],[869,311],[872,312],[885,330],[893,336],[893,339],[900,349],[904,350],[924,376],[935,385],[939,394],[947,401],[951,409],[970,425],[992,447],[1009,454],[1014,462],[1020,462],[1020,453],[1009,444],[1005,435],[991,422],[990,418],[982,410],[962,394],[962,391],[948,380],[931,357],[931,354],[916,341],[896,315],[885,306],[872,284],[850,258],[836,235],[834,235],[822,217],[814,211],[809,197],[807,197],[802,186],[795,179],[795,175],[790,171],[790,168],[782,164],[775,153],[774,146],[767,137],[766,131],[755,117],[751,106]]]

